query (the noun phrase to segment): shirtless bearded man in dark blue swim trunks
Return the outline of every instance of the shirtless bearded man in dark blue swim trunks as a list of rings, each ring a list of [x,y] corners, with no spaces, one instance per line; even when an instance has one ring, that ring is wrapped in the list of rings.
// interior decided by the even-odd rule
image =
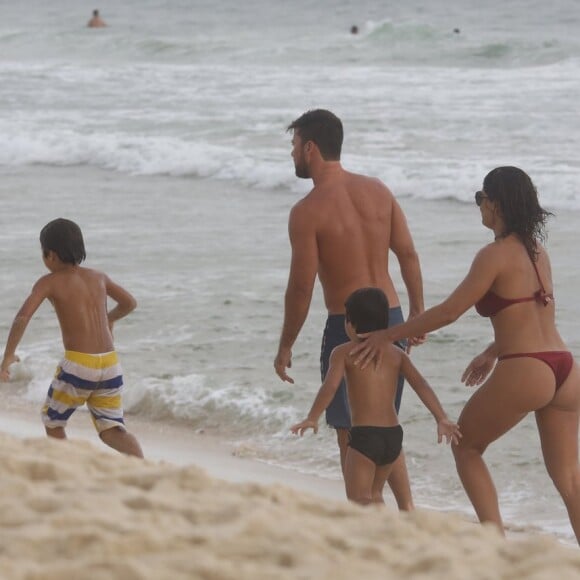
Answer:
[[[368,286],[381,288],[391,305],[391,326],[403,322],[399,297],[388,271],[389,249],[399,261],[409,296],[409,317],[423,312],[424,305],[419,258],[405,215],[381,181],[343,169],[340,119],[330,111],[308,111],[288,130],[293,131],[296,176],[314,182],[310,193],[292,208],[288,226],[292,260],[274,368],[283,381],[293,383],[286,369],[292,365],[292,347],[308,315],[317,274],[328,310],[322,342],[322,380],[334,347],[349,340],[344,330],[344,303],[352,292]],[[410,344],[423,340],[417,337]],[[400,380],[397,412],[402,388]],[[344,472],[351,427],[344,381],[326,410],[326,420],[336,429]],[[413,509],[403,453],[393,465],[389,486],[399,509]]]

